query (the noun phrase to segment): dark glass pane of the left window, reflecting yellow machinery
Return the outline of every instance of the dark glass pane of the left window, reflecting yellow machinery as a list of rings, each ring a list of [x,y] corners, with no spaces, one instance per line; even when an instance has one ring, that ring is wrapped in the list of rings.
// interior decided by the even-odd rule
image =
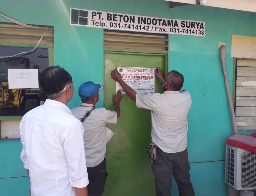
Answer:
[[[30,47],[0,46],[1,56],[32,50]],[[37,48],[20,57],[0,58],[0,115],[24,115],[42,103],[46,95],[42,89],[9,89],[8,69],[37,69],[38,74],[49,66],[48,48]]]

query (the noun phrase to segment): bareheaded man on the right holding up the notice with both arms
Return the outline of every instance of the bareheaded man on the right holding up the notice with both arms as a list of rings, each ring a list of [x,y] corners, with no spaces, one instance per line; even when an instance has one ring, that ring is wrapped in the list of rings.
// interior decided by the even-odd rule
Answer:
[[[181,91],[184,78],[177,71],[170,71],[163,77],[160,68],[156,76],[163,82],[164,93],[136,93],[114,70],[112,79],[119,82],[125,93],[138,108],[151,110],[152,142],[157,146],[156,160],[152,162],[157,196],[171,196],[172,175],[177,182],[180,196],[194,196],[190,182],[190,165],[187,153],[187,114],[191,106],[191,96]]]

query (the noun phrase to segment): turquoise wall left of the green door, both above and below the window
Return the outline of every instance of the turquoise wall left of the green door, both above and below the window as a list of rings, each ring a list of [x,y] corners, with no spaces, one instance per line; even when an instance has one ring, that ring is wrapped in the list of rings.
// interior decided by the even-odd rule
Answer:
[[[103,83],[103,29],[69,25],[69,8],[82,8],[168,18],[167,1],[160,0],[0,0],[0,13],[27,24],[54,26],[55,65],[63,66],[74,80],[70,108],[81,101],[82,82]],[[141,9],[143,8],[143,9]],[[0,22],[9,22],[0,17]],[[98,107],[103,106],[103,92]],[[20,141],[0,141],[0,196],[25,196],[29,181],[20,160]],[[2,191],[4,190],[4,192]]]

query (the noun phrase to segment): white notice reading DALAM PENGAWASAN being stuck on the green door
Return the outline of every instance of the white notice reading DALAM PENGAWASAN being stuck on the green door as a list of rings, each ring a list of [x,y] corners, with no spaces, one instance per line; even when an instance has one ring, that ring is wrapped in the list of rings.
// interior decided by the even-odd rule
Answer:
[[[117,67],[123,81],[136,93],[155,93],[155,68],[144,67]],[[117,82],[116,91],[121,90],[126,95],[121,85]]]

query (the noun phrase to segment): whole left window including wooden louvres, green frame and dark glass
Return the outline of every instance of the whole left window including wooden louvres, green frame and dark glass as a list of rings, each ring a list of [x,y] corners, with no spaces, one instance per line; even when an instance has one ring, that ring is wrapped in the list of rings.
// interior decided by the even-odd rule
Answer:
[[[45,26],[47,32],[42,41],[32,50],[44,34],[45,29],[24,27],[15,23],[0,23],[0,119],[5,116],[22,116],[29,110],[41,105],[46,95],[40,87],[30,89],[9,88],[8,69],[37,69],[38,75],[54,65],[53,44],[54,31],[52,26]],[[8,118],[9,118],[8,117]]]

